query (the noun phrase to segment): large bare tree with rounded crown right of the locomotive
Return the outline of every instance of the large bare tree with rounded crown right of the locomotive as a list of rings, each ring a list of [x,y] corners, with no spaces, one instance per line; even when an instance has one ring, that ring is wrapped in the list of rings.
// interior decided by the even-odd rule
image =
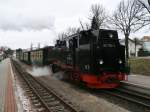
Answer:
[[[145,17],[143,7],[137,0],[121,1],[111,21],[125,36],[126,59],[129,58],[128,39],[131,32],[136,32],[146,25],[141,21]]]

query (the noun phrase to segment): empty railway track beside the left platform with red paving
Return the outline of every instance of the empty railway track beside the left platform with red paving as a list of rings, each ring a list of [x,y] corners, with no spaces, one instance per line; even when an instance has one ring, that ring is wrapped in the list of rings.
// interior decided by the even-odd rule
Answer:
[[[25,72],[16,61],[13,60],[12,62],[19,76],[23,79],[24,85],[26,85],[26,93],[39,112],[79,112],[79,110],[73,108],[72,105],[66,103],[56,93]]]

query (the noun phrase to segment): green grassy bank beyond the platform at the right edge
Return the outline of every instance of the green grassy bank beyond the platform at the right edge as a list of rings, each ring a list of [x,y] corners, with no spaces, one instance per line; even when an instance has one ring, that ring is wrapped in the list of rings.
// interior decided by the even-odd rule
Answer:
[[[131,73],[150,76],[150,58],[149,59],[130,59]]]

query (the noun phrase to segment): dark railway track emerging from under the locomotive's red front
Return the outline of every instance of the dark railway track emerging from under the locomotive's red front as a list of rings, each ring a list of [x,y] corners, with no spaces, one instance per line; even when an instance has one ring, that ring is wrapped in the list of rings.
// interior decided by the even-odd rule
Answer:
[[[113,90],[104,90],[104,93],[110,94],[121,99],[130,101],[132,103],[141,105],[150,109],[150,96],[142,93],[138,93],[136,91],[124,89],[124,88],[117,88]]]

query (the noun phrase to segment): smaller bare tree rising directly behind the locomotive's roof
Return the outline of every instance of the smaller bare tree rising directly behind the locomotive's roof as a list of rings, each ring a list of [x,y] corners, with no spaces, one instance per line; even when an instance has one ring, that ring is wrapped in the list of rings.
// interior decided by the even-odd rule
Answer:
[[[93,4],[90,12],[91,28],[99,29],[106,26],[108,16],[106,14],[106,9],[102,5]]]

